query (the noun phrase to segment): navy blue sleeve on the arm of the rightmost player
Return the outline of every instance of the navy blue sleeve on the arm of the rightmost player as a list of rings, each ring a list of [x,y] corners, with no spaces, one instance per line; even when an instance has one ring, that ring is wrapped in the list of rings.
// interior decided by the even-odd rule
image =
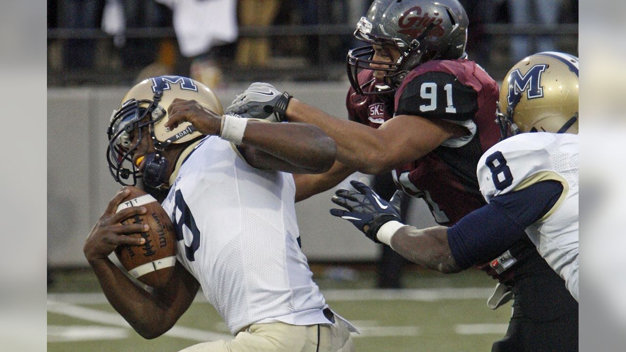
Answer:
[[[526,236],[524,230],[557,202],[563,185],[542,181],[498,195],[448,229],[448,245],[461,269],[489,261]]]

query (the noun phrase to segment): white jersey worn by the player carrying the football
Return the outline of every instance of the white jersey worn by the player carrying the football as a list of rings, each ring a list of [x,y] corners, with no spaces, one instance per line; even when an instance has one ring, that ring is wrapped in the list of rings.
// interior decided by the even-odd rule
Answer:
[[[183,237],[178,261],[232,334],[254,323],[329,323],[298,244],[294,196],[291,174],[250,167],[229,142],[207,137],[163,202]]]

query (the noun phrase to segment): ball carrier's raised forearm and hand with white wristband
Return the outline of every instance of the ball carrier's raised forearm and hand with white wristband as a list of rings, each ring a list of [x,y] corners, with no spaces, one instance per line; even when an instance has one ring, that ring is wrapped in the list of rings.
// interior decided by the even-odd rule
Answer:
[[[205,135],[240,144],[245,159],[257,168],[321,173],[331,168],[336,144],[321,128],[305,123],[267,123],[220,116],[194,100],[175,99],[168,109],[167,128],[187,121]]]

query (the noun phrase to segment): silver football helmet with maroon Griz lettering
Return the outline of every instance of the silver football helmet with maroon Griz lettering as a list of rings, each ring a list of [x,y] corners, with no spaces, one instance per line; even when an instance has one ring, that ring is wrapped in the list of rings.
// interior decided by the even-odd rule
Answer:
[[[347,73],[361,95],[394,91],[409,71],[429,60],[454,60],[465,56],[469,19],[457,0],[375,0],[357,23],[354,36],[368,46],[347,54]],[[391,46],[400,53],[394,63],[374,61],[372,45]],[[370,65],[384,65],[371,67]],[[359,82],[360,70],[384,71],[386,88],[364,92],[372,80]]]

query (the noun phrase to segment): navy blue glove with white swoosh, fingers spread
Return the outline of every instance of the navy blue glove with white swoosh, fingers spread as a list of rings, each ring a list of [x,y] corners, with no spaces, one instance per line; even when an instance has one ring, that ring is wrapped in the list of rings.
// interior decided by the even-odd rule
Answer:
[[[387,202],[359,181],[350,181],[350,184],[359,192],[347,189],[337,190],[331,200],[334,204],[347,210],[331,209],[331,214],[352,222],[369,239],[381,243],[376,238],[381,226],[389,221],[401,221],[399,191],[396,191],[391,202]]]

